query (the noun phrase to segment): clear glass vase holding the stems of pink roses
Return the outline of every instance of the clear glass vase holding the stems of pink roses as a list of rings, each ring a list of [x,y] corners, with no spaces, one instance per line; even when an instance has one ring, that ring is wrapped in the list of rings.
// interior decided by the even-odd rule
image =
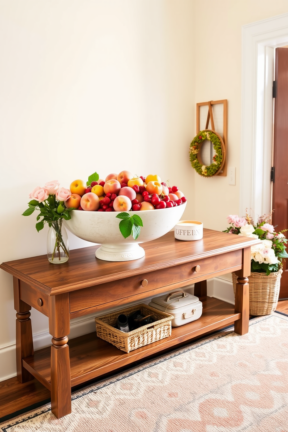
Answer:
[[[52,264],[66,263],[69,259],[68,236],[62,219],[49,222],[47,257]]]

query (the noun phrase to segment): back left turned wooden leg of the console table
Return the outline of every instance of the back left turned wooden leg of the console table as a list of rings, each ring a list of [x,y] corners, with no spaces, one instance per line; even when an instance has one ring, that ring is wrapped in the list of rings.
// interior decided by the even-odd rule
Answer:
[[[16,313],[16,370],[20,382],[32,380],[34,377],[23,368],[22,359],[34,354],[32,324],[30,319],[31,306],[20,300],[19,279],[13,276],[14,308]]]

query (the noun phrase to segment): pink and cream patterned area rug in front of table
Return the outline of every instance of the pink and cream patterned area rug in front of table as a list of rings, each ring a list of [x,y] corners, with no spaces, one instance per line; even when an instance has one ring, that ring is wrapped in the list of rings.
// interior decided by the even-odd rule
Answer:
[[[50,405],[3,432],[288,432],[288,317],[250,321],[73,394],[72,414]]]

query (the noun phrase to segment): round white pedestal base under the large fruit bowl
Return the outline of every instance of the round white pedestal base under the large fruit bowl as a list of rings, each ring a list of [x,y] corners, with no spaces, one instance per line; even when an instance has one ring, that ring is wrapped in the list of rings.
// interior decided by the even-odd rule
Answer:
[[[95,256],[104,261],[132,261],[144,257],[145,251],[138,243],[102,244],[97,249]]]

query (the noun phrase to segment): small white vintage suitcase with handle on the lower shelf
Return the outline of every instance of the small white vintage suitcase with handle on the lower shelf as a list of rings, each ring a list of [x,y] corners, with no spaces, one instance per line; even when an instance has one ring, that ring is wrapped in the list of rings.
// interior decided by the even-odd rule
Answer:
[[[195,295],[184,291],[174,291],[154,297],[149,306],[173,315],[172,327],[190,323],[202,315],[202,302]]]

